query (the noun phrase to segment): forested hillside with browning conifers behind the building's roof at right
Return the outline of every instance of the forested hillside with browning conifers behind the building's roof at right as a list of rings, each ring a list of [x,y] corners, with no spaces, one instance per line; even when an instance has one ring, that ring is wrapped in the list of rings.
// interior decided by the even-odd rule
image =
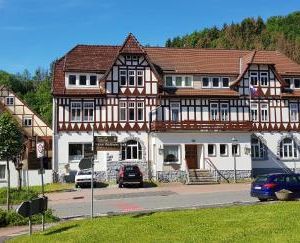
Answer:
[[[279,50],[300,63],[300,11],[206,28],[168,39],[166,47]]]

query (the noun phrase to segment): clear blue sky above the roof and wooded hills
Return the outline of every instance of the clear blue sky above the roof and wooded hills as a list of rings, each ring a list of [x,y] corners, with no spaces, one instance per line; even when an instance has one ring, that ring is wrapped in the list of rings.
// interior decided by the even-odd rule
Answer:
[[[245,17],[286,15],[300,0],[0,0],[0,69],[48,68],[76,44],[142,44]]]

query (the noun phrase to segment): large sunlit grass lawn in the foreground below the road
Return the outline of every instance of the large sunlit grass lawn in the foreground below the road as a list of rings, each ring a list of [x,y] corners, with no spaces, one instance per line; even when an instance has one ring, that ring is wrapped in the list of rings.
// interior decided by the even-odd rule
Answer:
[[[15,242],[299,242],[300,203],[159,212],[61,223]]]

